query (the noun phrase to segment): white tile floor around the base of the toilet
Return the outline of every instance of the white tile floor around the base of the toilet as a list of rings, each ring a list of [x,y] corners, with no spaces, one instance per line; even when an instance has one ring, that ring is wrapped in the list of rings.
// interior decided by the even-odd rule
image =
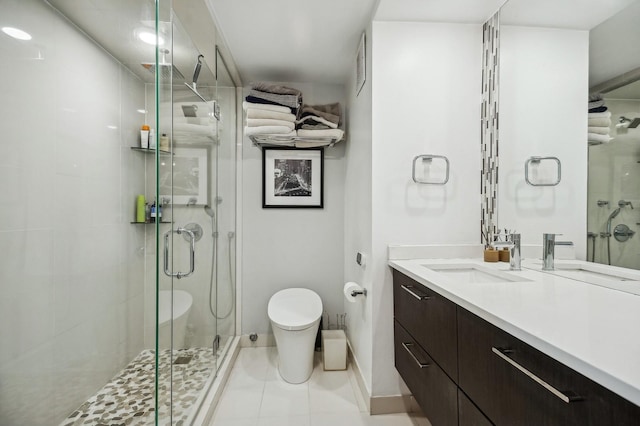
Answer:
[[[353,371],[324,371],[320,356],[298,385],[282,380],[276,366],[275,347],[241,349],[209,426],[430,425],[420,415],[370,416]]]

